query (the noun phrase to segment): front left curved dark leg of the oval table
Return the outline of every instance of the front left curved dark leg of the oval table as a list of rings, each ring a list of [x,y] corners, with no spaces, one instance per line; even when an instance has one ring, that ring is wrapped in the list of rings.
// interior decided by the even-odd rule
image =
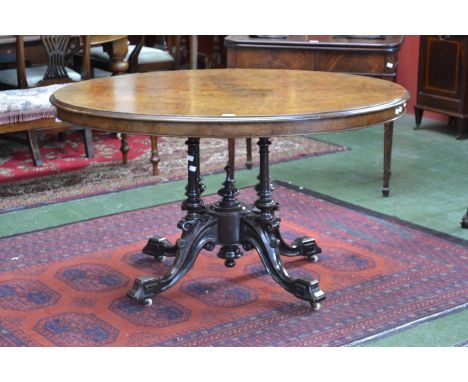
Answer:
[[[190,230],[182,234],[175,246],[171,245],[169,251],[177,247],[175,261],[171,269],[159,279],[152,276],[138,277],[127,296],[137,302],[151,305],[151,297],[165,291],[179,281],[190,270],[203,248],[208,250],[214,248],[216,234],[216,218],[203,215],[196,222],[192,222]]]

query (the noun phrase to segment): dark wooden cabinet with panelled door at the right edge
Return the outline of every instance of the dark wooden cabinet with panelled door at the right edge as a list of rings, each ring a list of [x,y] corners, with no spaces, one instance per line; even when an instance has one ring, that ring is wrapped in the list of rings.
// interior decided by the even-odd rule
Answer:
[[[466,138],[468,118],[468,36],[421,36],[416,128],[424,110],[456,122],[457,139]]]

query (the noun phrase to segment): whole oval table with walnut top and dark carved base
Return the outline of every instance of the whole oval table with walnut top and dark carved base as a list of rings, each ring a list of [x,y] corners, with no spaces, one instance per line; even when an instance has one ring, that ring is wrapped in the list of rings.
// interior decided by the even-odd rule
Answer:
[[[269,176],[269,138],[323,133],[393,121],[406,110],[408,92],[384,80],[340,73],[274,69],[215,69],[132,74],[66,86],[51,97],[58,117],[96,129],[130,134],[187,137],[186,215],[175,244],[149,239],[143,252],[161,260],[175,257],[161,278],[135,280],[128,296],[150,305],[192,267],[202,249],[219,246],[218,256],[232,267],[244,250],[256,249],[271,277],[296,297],[320,308],[325,294],[316,280],[288,275],[281,256],[318,260],[313,238],[286,243]],[[258,199],[247,205],[226,166],[221,199],[205,205],[200,176],[200,138],[257,137],[260,153]],[[286,211],[287,213],[287,211]]]

